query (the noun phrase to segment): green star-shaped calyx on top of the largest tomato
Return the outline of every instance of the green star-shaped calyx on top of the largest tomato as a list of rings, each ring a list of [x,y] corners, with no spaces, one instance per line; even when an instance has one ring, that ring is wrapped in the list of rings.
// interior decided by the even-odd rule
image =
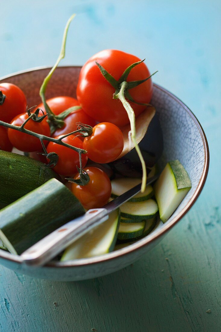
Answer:
[[[132,63],[129,67],[127,67],[123,74],[120,76],[120,78],[118,79],[118,81],[102,66],[100,65],[97,61],[95,61],[96,65],[99,67],[102,75],[104,76],[104,78],[112,85],[112,87],[115,89],[115,92],[113,94],[113,99],[118,99],[117,94],[120,92],[121,89],[121,85],[123,82],[126,82],[127,85],[125,85],[125,90],[124,90],[124,95],[125,98],[127,100],[130,100],[133,103],[136,103],[138,105],[146,105],[149,106],[150,104],[146,104],[146,103],[139,103],[137,101],[135,101],[132,96],[130,95],[129,91],[132,88],[135,88],[136,86],[144,83],[145,81],[147,81],[149,78],[151,78],[154,74],[157,73],[157,71],[155,71],[152,75],[150,75],[149,77],[143,79],[143,80],[137,80],[137,81],[130,81],[127,82],[126,79],[131,71],[131,69],[133,69],[135,66],[137,66],[138,64],[140,64],[141,62],[143,62],[145,59],[140,60],[138,62],[134,62]]]

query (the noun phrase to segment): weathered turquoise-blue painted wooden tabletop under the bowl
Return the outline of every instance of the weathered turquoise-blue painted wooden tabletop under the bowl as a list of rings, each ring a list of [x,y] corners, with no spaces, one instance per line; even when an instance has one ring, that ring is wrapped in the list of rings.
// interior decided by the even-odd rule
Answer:
[[[151,252],[119,272],[58,283],[0,267],[0,331],[220,331],[221,2],[1,3],[0,76],[52,65],[72,13],[77,16],[62,64],[81,65],[105,48],[145,57],[151,72],[159,70],[154,81],[201,122],[209,175],[188,214]]]

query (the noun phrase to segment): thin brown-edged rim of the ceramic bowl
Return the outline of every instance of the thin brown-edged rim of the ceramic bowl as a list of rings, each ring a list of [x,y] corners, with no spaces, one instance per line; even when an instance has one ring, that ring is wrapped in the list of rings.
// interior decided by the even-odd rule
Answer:
[[[70,68],[79,68],[80,69],[81,66],[59,66],[57,68],[57,70],[59,70],[59,69],[60,70],[61,69],[70,69]],[[30,68],[30,69],[27,69],[27,70],[18,71],[18,72],[12,73],[10,75],[0,77],[0,81],[5,80],[7,78],[11,78],[13,76],[18,76],[18,75],[22,75],[22,74],[25,74],[25,73],[29,73],[29,72],[31,73],[31,72],[34,72],[34,71],[45,70],[45,69],[50,70],[51,67],[39,66],[39,67]],[[173,218],[168,224],[165,223],[164,227],[157,230],[153,234],[150,233],[147,237],[144,237],[143,239],[140,239],[136,243],[133,243],[131,246],[127,246],[127,247],[122,248],[120,250],[116,250],[116,251],[113,251],[111,253],[104,254],[104,255],[101,255],[101,256],[96,256],[96,257],[70,260],[70,261],[66,261],[66,262],[51,261],[50,263],[46,264],[44,267],[46,267],[46,268],[55,268],[55,267],[57,267],[57,268],[64,268],[64,267],[65,268],[68,268],[68,267],[74,268],[74,267],[80,267],[80,266],[85,266],[85,265],[98,264],[98,263],[102,263],[104,261],[111,261],[115,258],[120,258],[122,256],[128,255],[131,252],[139,250],[139,249],[143,248],[144,246],[146,246],[147,244],[150,244],[150,243],[154,242],[160,236],[164,235],[169,229],[171,229],[174,225],[177,224],[177,222],[186,214],[186,212],[196,202],[196,200],[199,197],[199,195],[202,191],[202,188],[205,184],[207,174],[208,174],[208,169],[209,169],[209,146],[208,146],[208,142],[207,142],[205,132],[204,132],[201,124],[199,123],[198,119],[192,113],[192,111],[178,97],[176,97],[174,94],[172,94],[171,92],[169,92],[168,90],[166,90],[165,88],[161,87],[158,84],[154,83],[153,86],[155,88],[157,88],[158,90],[163,91],[170,98],[172,98],[176,102],[178,102],[184,108],[184,110],[188,113],[188,115],[192,118],[192,120],[195,122],[195,124],[198,127],[198,130],[201,134],[202,141],[203,141],[203,147],[204,147],[204,154],[205,154],[204,166],[203,166],[202,176],[199,180],[198,186],[197,186],[195,192],[193,193],[192,197],[190,198],[190,200],[188,201],[186,206],[182,209],[182,211],[175,218]],[[20,256],[11,254],[11,253],[9,253],[7,251],[4,251],[4,250],[0,250],[0,258],[12,261],[14,263],[20,263],[20,264],[23,263],[23,260],[21,259]],[[44,268],[44,267],[42,267],[42,268]]]

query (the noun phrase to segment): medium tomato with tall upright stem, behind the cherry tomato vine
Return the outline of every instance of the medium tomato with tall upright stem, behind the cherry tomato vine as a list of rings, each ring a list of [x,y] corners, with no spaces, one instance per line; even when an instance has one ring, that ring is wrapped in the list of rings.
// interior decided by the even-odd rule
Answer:
[[[50,98],[46,102],[51,111],[55,115],[60,114],[61,112],[67,110],[70,107],[80,105],[77,99],[68,96],[59,96],[59,97]],[[39,104],[37,108],[40,108],[43,112],[45,112],[43,103]],[[94,119],[92,119],[89,115],[87,115],[82,109],[79,109],[71,112],[64,119],[64,126],[62,128],[58,128],[57,130],[55,130],[55,132],[52,134],[52,137],[65,135],[68,134],[69,132],[77,130],[76,122],[89,124],[92,127],[94,127],[96,124],[96,121]]]

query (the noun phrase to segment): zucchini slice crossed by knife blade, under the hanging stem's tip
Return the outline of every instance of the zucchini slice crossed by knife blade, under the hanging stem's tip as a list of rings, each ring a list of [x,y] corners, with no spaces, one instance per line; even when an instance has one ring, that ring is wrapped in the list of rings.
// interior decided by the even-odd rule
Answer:
[[[141,183],[141,179],[137,178],[120,178],[114,179],[111,181],[112,193],[111,197],[116,198],[127,190],[135,187],[139,183]],[[128,202],[142,202],[146,201],[153,196],[153,187],[151,185],[146,186],[144,193],[138,193],[134,197],[132,197]]]

